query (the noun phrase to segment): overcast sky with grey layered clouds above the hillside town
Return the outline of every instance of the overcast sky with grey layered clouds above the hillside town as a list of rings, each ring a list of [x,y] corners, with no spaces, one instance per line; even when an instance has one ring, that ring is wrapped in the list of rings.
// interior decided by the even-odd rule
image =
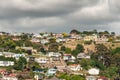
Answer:
[[[120,33],[120,0],[0,0],[0,30]]]

